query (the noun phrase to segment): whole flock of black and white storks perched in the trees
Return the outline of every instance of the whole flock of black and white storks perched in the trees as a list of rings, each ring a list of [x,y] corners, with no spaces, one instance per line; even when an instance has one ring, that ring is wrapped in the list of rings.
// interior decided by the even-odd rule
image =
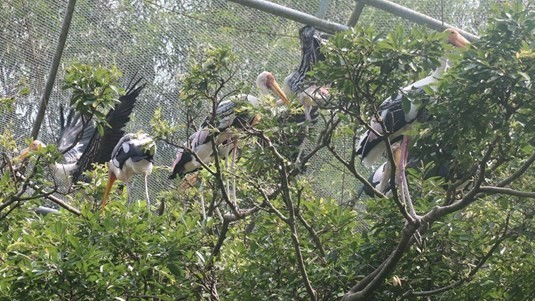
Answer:
[[[456,47],[466,47],[468,41],[457,31],[448,29],[448,42]],[[279,100],[278,106],[290,104],[290,99],[296,99],[303,106],[303,112],[290,116],[285,122],[296,122],[306,126],[314,122],[318,116],[318,107],[328,98],[328,87],[309,85],[305,87],[307,73],[320,60],[324,59],[320,52],[325,36],[311,26],[304,26],[299,31],[301,42],[301,61],[298,67],[288,75],[279,86],[272,73],[264,71],[256,80],[256,86],[260,91],[259,96],[240,94],[217,106],[215,116],[207,117],[200,125],[197,132],[193,133],[183,147],[177,151],[176,159],[172,164],[172,172],[169,176],[174,179],[177,176],[184,178],[188,173],[201,169],[219,158],[231,158],[232,166],[237,156],[237,140],[243,129],[255,126],[259,122],[259,115],[254,112],[240,110],[243,103],[250,104],[253,108],[262,106],[269,92],[273,92]],[[430,76],[417,81],[402,89],[401,93],[421,93],[424,86],[436,83],[441,74],[449,67],[449,61],[442,59],[441,66]],[[70,186],[83,179],[83,172],[90,170],[92,164],[108,165],[108,182],[104,192],[101,208],[104,210],[111,188],[116,179],[126,182],[128,204],[130,204],[129,180],[136,174],[142,174],[145,178],[145,197],[147,208],[150,208],[147,177],[152,172],[156,144],[145,133],[125,133],[125,126],[130,120],[135,103],[144,89],[141,80],[129,83],[125,95],[119,98],[118,104],[110,110],[106,116],[109,127],[105,127],[103,135],[96,130],[91,118],[74,112],[73,109],[64,117],[63,109],[60,112],[60,135],[56,142],[57,149],[63,154],[64,163],[55,163],[50,166],[56,179]],[[392,150],[395,162],[399,166],[398,171],[406,164],[408,137],[403,132],[418,119],[420,109],[414,105],[408,112],[403,111],[401,105],[401,93],[399,97],[388,98],[379,107],[377,115],[370,122],[372,130],[366,131],[359,140],[358,154],[366,166],[371,166],[379,158],[383,157],[387,149],[385,140],[382,138],[384,130],[392,133]],[[282,122],[282,121],[281,121]],[[294,147],[301,148],[305,139],[302,135],[294,141]],[[28,157],[32,151],[44,147],[39,140],[33,141],[24,149],[19,159]],[[217,156],[214,153],[217,152]],[[300,155],[300,153],[299,153]],[[299,155],[296,156],[297,159]],[[385,162],[370,177],[371,184],[381,193],[386,193],[392,187],[389,184],[390,163]],[[400,177],[404,172],[399,172]],[[369,193],[366,191],[366,193]],[[371,193],[373,195],[373,192]]]

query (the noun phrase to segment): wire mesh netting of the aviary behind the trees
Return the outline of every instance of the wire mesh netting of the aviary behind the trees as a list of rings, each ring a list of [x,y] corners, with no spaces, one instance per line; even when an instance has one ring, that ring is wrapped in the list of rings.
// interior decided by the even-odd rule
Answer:
[[[354,0],[272,1],[315,15],[327,5],[325,19],[346,24],[355,7]],[[485,24],[486,11],[493,1],[446,0],[396,1],[426,15],[472,33]],[[15,110],[2,113],[2,131],[11,131],[22,147],[30,136],[39,109],[47,75],[58,41],[67,1],[2,1],[0,22],[0,96],[15,96]],[[362,12],[357,26],[373,25],[388,31],[408,21],[372,7]],[[68,91],[61,90],[64,70],[73,62],[115,64],[126,83],[143,77],[148,83],[134,110],[127,131],[150,132],[149,121],[157,108],[172,124],[184,122],[178,90],[191,59],[210,45],[231,45],[242,62],[240,80],[254,83],[262,70],[272,71],[282,80],[299,63],[297,22],[224,0],[78,0],[67,43],[58,70],[40,140],[52,143],[58,135],[58,108],[68,104]],[[179,133],[184,140],[186,133]],[[348,139],[339,139],[341,149],[351,148]],[[159,143],[156,165],[170,166],[176,149]],[[357,183],[349,181],[342,166],[327,151],[320,152],[307,169],[306,177],[323,197],[351,199]],[[150,178],[150,190],[167,190],[170,182],[164,171]],[[140,179],[134,179],[140,181]],[[134,185],[137,186],[137,185]],[[136,197],[142,198],[141,192]]]

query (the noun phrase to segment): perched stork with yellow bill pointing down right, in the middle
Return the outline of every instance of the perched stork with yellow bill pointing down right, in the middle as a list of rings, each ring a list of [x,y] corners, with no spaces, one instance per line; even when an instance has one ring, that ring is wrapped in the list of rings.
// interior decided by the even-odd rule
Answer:
[[[265,95],[272,90],[286,105],[289,100],[282,91],[275,77],[270,72],[264,71],[258,75],[256,86],[260,90],[260,97],[240,94],[222,101],[215,112],[214,123],[207,117],[201,124],[199,131],[191,135],[185,148],[180,148],[176,159],[173,162],[173,171],[169,179],[174,179],[177,175],[183,178],[184,175],[202,168],[201,163],[192,153],[204,163],[209,164],[214,160],[212,141],[215,142],[218,152],[222,157],[228,157],[230,145],[234,145],[236,150],[236,133],[232,128],[242,129],[247,126],[254,126],[259,122],[259,116],[250,112],[239,112],[241,104],[248,102],[253,107],[258,107]],[[213,139],[212,139],[213,137]]]

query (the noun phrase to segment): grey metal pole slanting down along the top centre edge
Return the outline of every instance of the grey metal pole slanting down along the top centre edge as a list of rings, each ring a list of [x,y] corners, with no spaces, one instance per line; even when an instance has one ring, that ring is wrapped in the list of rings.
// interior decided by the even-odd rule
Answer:
[[[288,8],[283,5],[271,3],[269,1],[264,0],[229,0],[231,2],[235,2],[244,6],[256,8],[261,11],[265,11],[270,14],[274,14],[276,16],[284,17],[286,19],[294,20],[299,23],[308,24],[316,27],[317,29],[327,32],[327,33],[335,33],[338,31],[344,31],[349,29],[349,27],[326,21],[323,19],[320,19],[318,17],[314,17],[312,15],[306,14],[304,12]]]

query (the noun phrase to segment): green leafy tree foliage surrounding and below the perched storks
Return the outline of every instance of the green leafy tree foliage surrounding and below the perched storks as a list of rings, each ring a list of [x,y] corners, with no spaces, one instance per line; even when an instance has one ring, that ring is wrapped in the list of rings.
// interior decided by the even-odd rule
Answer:
[[[87,199],[101,197],[102,168],[69,195],[83,208],[81,216],[11,210],[30,208],[46,195],[13,177],[14,136],[4,130],[0,299],[533,299],[535,16],[521,7],[496,13],[480,41],[448,56],[454,64],[436,92],[404,100],[433,115],[408,132],[415,141],[410,151],[420,161],[408,173],[414,219],[405,217],[395,195],[361,199],[357,206],[319,198],[300,172],[317,152],[328,151],[353,180],[365,181],[354,147],[342,153],[332,138],[349,136],[354,145],[384,99],[427,75],[451,51],[443,34],[421,29],[385,35],[359,28],[332,37],[325,62],[309,74],[310,82],[331,85],[331,98],[307,136],[312,149],[303,161],[289,159],[295,149],[283,139],[299,128],[268,102],[255,112],[261,123],[239,133],[236,169],[224,162],[209,166],[197,175],[202,189],[195,180],[164,183],[170,189],[158,196],[168,206],[163,216],[138,207],[127,211],[120,189],[106,215],[92,212]],[[193,116],[208,112],[213,120],[220,101],[247,92],[229,48],[209,48],[191,63],[180,93],[192,112],[188,129]],[[95,76],[82,73],[71,83]],[[113,90],[107,90],[109,104]],[[90,99],[88,114],[94,114],[93,104],[108,104]],[[290,114],[299,112],[296,106]],[[179,128],[161,122],[160,113],[152,122],[155,132],[175,139]],[[437,145],[445,157],[426,156]],[[52,147],[32,156],[26,165],[31,179],[52,185],[44,168],[56,155]],[[458,178],[429,176],[444,161],[472,185],[456,189]],[[234,180],[236,199],[226,188]]]

